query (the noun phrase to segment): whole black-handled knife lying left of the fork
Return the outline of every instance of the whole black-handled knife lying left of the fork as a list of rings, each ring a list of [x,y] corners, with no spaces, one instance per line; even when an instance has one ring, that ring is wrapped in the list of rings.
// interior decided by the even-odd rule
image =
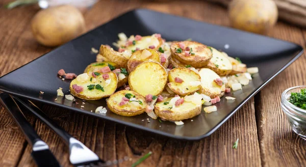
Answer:
[[[25,135],[28,143],[32,145],[31,155],[37,166],[61,166],[49,150],[48,145],[41,140],[11,96],[6,93],[1,93],[0,101]]]

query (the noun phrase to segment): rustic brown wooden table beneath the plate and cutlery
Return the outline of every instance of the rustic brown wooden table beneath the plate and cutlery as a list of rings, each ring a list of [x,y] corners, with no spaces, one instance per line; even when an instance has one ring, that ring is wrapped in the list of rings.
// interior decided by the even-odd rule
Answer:
[[[11,0],[0,2],[0,6],[8,1]],[[135,8],[229,25],[224,8],[202,1],[100,1],[85,13],[87,30]],[[0,9],[0,76],[52,50],[38,44],[31,34],[29,22],[38,10],[37,6]],[[284,22],[278,22],[268,36],[303,47],[306,42],[304,29]],[[286,88],[306,84],[305,64],[303,54],[215,133],[195,142],[149,134],[48,105],[44,105],[43,109],[101,158],[116,160],[131,157],[119,166],[130,166],[149,151],[152,155],[139,166],[305,166],[306,141],[291,130],[280,107],[281,93]],[[34,117],[28,118],[60,163],[71,166],[67,147],[60,138]],[[235,150],[232,146],[237,138],[239,145]],[[35,166],[30,153],[31,147],[1,106],[0,166]]]

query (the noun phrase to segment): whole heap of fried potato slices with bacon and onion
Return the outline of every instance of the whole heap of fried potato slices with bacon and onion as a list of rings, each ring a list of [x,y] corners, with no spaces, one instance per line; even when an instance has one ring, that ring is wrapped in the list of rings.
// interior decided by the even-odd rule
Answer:
[[[96,62],[71,81],[70,92],[84,100],[108,97],[108,108],[121,116],[147,113],[175,122],[199,115],[202,105],[211,113],[217,110],[212,104],[258,72],[199,42],[166,42],[160,34],[118,37],[118,49],[101,45]]]

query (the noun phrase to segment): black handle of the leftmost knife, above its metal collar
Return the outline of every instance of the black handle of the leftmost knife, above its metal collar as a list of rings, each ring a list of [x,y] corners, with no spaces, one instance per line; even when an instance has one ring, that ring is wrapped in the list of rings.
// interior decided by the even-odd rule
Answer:
[[[18,108],[15,101],[7,93],[0,94],[0,100],[3,106],[8,110],[8,113],[15,120],[21,131],[24,133],[25,138],[33,146],[37,141],[40,141],[40,137],[32,127],[32,125],[24,117],[21,109]]]

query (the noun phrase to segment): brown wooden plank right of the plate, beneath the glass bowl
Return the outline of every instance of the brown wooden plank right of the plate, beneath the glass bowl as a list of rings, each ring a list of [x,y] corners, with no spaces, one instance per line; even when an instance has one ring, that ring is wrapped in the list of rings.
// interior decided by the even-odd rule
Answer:
[[[301,30],[278,23],[269,36],[305,46]],[[281,94],[290,87],[305,85],[303,54],[268,84],[256,97],[258,134],[263,166],[304,166],[306,142],[295,134],[281,109]]]

